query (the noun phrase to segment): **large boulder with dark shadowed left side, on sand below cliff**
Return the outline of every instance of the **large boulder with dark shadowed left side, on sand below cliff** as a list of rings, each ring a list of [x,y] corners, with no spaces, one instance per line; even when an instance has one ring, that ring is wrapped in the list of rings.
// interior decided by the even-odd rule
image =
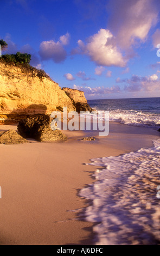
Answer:
[[[40,142],[66,140],[66,135],[61,131],[50,128],[52,120],[50,115],[36,115],[20,121],[18,131],[23,138],[34,138]]]

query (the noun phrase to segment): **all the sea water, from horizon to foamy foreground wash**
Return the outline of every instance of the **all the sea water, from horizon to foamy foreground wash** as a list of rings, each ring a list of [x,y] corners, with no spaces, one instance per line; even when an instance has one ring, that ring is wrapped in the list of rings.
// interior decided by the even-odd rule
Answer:
[[[160,98],[88,103],[98,111],[109,111],[111,121],[160,127]],[[92,202],[85,220],[94,223],[94,244],[160,245],[160,139],[151,148],[117,157],[104,155],[86,164],[98,167],[94,184],[80,191],[81,197]]]

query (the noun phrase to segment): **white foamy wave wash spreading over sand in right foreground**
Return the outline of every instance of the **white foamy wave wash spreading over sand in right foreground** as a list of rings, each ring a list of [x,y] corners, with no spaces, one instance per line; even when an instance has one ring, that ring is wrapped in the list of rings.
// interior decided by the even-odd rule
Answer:
[[[85,216],[95,222],[96,245],[160,244],[160,140],[154,147],[92,159],[96,182],[80,192],[92,200]]]

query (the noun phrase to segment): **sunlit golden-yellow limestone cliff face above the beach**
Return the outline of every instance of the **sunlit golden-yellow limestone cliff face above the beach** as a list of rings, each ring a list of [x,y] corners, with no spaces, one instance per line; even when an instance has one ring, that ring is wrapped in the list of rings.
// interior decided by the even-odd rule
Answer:
[[[36,71],[33,74],[25,68],[0,62],[0,121],[50,114],[62,111],[63,107],[75,111],[77,99],[87,104],[84,93],[78,90],[69,89],[67,94],[49,77],[39,77]]]

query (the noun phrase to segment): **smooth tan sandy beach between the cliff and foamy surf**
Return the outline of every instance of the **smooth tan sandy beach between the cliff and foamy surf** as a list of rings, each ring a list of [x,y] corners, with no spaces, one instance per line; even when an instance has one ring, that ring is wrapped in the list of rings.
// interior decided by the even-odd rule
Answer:
[[[17,129],[0,126],[0,131]],[[150,147],[159,133],[110,124],[110,135],[66,131],[65,143],[0,145],[0,245],[92,245],[92,223],[78,218],[87,202],[80,188],[94,182],[95,167],[83,163]],[[84,134],[85,133],[85,134]],[[97,137],[96,141],[79,139]]]

